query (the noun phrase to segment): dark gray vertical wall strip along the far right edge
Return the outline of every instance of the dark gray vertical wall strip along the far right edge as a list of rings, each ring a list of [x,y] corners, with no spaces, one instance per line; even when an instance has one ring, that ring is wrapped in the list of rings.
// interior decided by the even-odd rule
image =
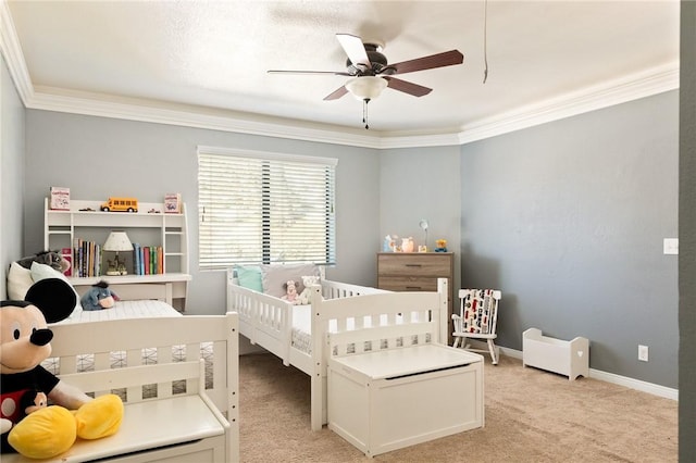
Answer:
[[[696,455],[696,2],[681,3],[679,459]]]

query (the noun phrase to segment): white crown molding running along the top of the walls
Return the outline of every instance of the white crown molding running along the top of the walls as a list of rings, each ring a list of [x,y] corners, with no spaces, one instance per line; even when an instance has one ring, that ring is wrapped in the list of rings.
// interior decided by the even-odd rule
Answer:
[[[0,0],[0,50],[27,109],[177,125],[372,149],[465,145],[679,88],[679,63],[587,87],[438,134],[358,130],[233,111],[72,92],[32,83],[7,4]]]

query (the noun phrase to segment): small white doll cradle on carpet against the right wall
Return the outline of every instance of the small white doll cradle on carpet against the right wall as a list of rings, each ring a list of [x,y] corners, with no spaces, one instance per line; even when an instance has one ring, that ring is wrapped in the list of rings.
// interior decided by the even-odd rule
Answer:
[[[543,336],[530,328],[522,334],[522,364],[559,373],[574,380],[589,376],[589,341],[576,337],[570,341]]]

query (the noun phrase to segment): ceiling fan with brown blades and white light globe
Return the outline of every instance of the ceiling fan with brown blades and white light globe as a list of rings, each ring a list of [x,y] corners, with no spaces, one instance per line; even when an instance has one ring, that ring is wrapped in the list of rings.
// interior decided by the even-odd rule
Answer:
[[[336,34],[336,38],[348,55],[346,71],[271,70],[269,74],[330,74],[352,77],[345,85],[328,93],[324,100],[337,100],[350,92],[357,99],[363,101],[366,108],[366,103],[377,98],[386,87],[414,97],[423,97],[433,90],[422,85],[396,78],[394,75],[451,66],[461,64],[464,61],[464,55],[459,50],[450,50],[389,64],[387,58],[382,54],[384,45],[376,40],[363,42],[362,38],[351,34]],[[363,117],[363,122],[366,123],[364,118],[366,117]],[[365,128],[369,127],[365,125]]]

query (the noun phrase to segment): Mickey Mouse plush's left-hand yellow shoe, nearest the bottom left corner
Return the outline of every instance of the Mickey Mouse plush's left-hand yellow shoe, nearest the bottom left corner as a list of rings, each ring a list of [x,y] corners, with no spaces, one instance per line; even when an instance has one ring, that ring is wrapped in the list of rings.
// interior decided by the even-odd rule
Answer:
[[[30,459],[50,459],[70,449],[76,439],[75,417],[58,405],[40,409],[17,423],[10,435],[10,445]]]

